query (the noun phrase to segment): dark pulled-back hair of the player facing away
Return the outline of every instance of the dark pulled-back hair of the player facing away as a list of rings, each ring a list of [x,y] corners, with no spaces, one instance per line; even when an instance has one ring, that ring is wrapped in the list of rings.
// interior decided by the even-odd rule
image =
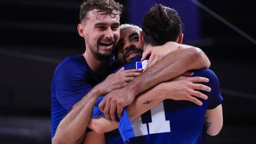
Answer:
[[[156,4],[145,14],[142,29],[145,44],[158,46],[175,42],[182,33],[182,22],[175,10]]]

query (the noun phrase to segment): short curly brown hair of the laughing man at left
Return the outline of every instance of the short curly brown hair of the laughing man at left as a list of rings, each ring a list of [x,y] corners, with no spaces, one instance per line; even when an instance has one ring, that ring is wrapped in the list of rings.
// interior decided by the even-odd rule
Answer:
[[[87,0],[80,5],[80,22],[86,18],[87,12],[97,9],[97,12],[104,12],[113,15],[122,14],[123,5],[113,0]],[[113,13],[116,10],[117,13]]]

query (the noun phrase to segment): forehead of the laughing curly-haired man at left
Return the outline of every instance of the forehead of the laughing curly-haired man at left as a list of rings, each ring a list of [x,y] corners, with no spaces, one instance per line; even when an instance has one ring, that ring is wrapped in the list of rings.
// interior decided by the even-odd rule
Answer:
[[[113,10],[112,14],[106,12],[100,12],[100,10],[91,10],[87,12],[87,22],[101,22],[101,23],[119,23],[120,16],[116,10]]]

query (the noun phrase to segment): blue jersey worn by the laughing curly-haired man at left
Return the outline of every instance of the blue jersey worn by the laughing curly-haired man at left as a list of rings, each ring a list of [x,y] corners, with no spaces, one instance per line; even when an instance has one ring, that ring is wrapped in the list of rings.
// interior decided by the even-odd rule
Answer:
[[[51,83],[52,138],[61,119],[100,81],[83,55],[66,57],[59,63]]]

